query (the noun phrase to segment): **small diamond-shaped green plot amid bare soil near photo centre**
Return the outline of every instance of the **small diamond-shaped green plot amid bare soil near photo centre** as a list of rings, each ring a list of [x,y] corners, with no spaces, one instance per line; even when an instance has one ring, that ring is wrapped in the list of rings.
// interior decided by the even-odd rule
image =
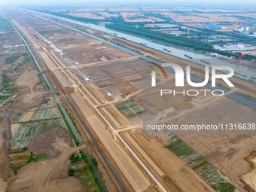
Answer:
[[[142,111],[144,111],[144,109],[141,106],[139,106],[137,102],[134,101],[134,99],[119,102],[115,106],[126,117],[132,116],[134,114],[139,114]]]

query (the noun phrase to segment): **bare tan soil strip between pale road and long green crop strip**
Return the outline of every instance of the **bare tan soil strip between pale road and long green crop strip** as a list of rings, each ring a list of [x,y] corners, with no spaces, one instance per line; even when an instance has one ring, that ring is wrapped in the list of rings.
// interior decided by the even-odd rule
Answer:
[[[139,146],[148,154],[148,157],[151,157],[154,163],[162,168],[162,171],[167,177],[163,179],[166,183],[169,183],[169,186],[172,186],[172,188],[184,192],[215,191],[212,190],[212,187],[209,187],[209,184],[206,184],[206,181],[203,181],[197,173],[190,169],[185,161],[181,160],[168,149],[163,148],[163,145],[160,145],[160,143],[149,139],[142,133],[133,133],[132,136]]]

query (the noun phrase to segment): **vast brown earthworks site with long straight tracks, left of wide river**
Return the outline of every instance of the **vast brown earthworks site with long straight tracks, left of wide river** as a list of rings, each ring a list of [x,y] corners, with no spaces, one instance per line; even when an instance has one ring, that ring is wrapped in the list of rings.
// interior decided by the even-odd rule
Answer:
[[[8,42],[23,46],[8,50],[18,56],[12,69],[0,60],[16,87],[1,100],[0,191],[255,191],[254,134],[147,129],[255,123],[255,108],[232,98],[255,98],[255,84],[233,77],[232,88],[217,80],[223,96],[161,96],[175,87],[175,73],[165,70],[168,79],[157,75],[152,87],[154,61],[190,66],[195,77],[203,77],[203,66],[48,14],[13,8],[1,15],[11,25]],[[25,53],[29,64],[15,66]],[[39,154],[46,157],[35,160]],[[84,164],[72,164],[74,154],[90,156],[99,188],[83,182],[77,170]],[[24,164],[11,170],[17,162]]]

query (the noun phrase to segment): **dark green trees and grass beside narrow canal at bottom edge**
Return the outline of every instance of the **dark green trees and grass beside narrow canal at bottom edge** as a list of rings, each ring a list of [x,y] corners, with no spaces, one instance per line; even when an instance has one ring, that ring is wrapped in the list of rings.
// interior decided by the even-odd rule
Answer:
[[[69,176],[77,176],[81,178],[87,185],[88,191],[102,191],[102,187],[96,178],[95,172],[98,169],[93,169],[96,160],[93,156],[84,154],[83,151],[79,151],[76,154],[72,154],[69,158]],[[98,163],[96,163],[97,165]],[[96,166],[94,166],[96,167]]]

